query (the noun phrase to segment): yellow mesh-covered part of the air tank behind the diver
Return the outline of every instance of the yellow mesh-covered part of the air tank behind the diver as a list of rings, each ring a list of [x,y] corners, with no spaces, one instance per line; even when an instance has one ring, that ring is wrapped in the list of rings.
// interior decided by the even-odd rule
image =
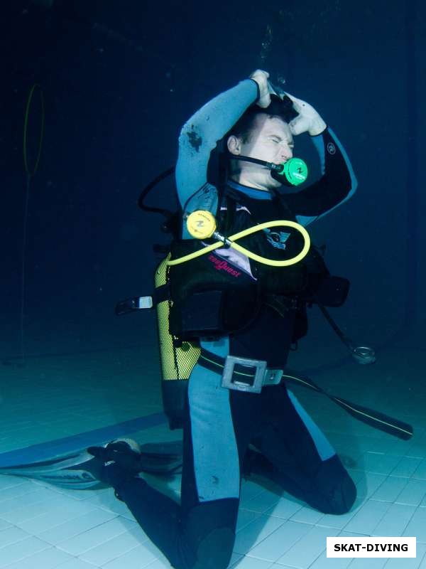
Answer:
[[[157,270],[155,270],[155,288],[165,285],[168,280],[166,264],[168,259],[170,259],[170,254],[160,262]],[[168,300],[157,304],[158,340],[163,381],[189,379],[192,368],[200,358],[200,347],[188,341],[182,342],[182,346],[179,348],[173,345],[173,336],[168,329],[169,312]]]

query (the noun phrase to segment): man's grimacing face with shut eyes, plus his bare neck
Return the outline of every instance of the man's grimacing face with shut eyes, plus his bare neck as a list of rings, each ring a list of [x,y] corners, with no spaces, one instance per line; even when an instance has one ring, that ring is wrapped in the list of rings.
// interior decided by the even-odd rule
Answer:
[[[280,164],[293,157],[293,136],[287,122],[280,117],[257,115],[246,140],[229,137],[228,149],[231,154],[250,156],[266,162]],[[239,184],[268,190],[278,188],[281,184],[271,176],[266,166],[238,161],[234,163],[233,179]]]

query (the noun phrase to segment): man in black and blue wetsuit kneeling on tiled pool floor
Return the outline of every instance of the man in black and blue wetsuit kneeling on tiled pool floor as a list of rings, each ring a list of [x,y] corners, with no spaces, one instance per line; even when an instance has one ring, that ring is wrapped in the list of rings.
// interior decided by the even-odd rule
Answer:
[[[170,331],[200,347],[182,415],[180,504],[135,476],[137,452],[125,442],[88,450],[97,478],[114,487],[176,569],[229,565],[242,474],[267,476],[327,514],[344,514],[356,498],[332,445],[282,381],[290,347],[306,333],[306,303],[329,275],[304,228],[349,199],[356,179],[322,117],[268,77],[256,70],[180,133],[181,210],[169,258],[218,239],[225,245],[168,265]],[[307,176],[293,157],[293,138],[305,132],[322,176],[290,192],[292,179],[297,185]],[[230,235],[256,226],[240,248],[232,245]]]

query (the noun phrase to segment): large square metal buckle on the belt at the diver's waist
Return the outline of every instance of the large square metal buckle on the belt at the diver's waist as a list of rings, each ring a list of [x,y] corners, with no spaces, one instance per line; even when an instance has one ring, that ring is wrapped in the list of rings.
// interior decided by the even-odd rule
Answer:
[[[236,364],[247,368],[247,373],[234,371]],[[252,373],[250,373],[250,370]],[[261,393],[265,372],[266,361],[226,356],[224,373],[222,374],[222,387],[249,393]]]

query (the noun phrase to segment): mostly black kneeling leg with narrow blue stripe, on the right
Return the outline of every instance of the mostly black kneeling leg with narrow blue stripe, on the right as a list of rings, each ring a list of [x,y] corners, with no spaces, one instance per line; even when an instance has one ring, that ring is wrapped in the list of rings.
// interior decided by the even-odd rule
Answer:
[[[271,418],[252,440],[261,454],[249,452],[246,472],[273,479],[324,513],[349,511],[356,487],[319,427],[284,386],[264,388],[261,395]]]

